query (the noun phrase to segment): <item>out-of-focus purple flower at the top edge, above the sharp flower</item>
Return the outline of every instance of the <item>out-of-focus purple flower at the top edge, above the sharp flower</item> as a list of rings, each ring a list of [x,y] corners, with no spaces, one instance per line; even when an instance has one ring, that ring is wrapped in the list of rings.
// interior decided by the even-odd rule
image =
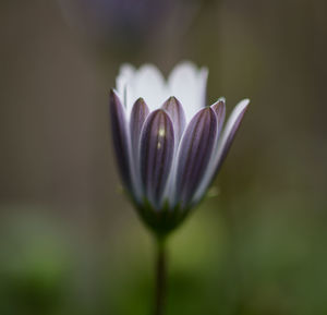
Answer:
[[[66,20],[94,40],[137,46],[171,23],[180,32],[194,15],[197,1],[59,0]],[[174,19],[174,17],[179,19]],[[172,20],[173,19],[173,20]],[[111,49],[114,47],[111,47]],[[135,49],[135,47],[134,47]]]

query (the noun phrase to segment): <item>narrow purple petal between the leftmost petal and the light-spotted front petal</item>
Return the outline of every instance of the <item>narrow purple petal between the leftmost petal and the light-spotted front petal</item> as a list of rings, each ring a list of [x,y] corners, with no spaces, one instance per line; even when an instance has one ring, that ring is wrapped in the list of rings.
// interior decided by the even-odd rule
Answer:
[[[148,113],[149,110],[144,99],[138,98],[133,105],[130,121],[133,158],[136,163],[138,161],[141,131]]]

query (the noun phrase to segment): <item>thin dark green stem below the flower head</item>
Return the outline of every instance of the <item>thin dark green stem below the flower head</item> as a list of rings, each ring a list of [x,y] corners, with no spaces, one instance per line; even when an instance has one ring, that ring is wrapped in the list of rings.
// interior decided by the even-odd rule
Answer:
[[[164,315],[166,302],[167,253],[165,240],[157,241],[155,315]]]

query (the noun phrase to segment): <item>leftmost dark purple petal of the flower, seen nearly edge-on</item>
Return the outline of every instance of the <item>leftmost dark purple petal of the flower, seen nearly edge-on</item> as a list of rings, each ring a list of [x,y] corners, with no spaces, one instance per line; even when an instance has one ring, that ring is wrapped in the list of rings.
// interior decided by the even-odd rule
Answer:
[[[129,162],[129,137],[124,108],[113,90],[110,90],[111,134],[117,163],[124,185],[132,191],[131,168]]]

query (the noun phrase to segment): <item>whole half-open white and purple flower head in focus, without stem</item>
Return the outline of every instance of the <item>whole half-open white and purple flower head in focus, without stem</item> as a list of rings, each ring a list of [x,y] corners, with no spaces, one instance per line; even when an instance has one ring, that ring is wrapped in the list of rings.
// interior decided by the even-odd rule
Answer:
[[[110,92],[113,145],[123,184],[157,234],[179,226],[221,167],[250,102],[223,126],[226,105],[206,106],[208,71],[178,64],[165,81],[156,66],[120,69]]]

